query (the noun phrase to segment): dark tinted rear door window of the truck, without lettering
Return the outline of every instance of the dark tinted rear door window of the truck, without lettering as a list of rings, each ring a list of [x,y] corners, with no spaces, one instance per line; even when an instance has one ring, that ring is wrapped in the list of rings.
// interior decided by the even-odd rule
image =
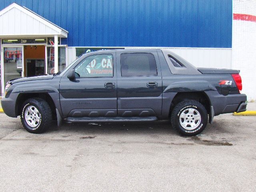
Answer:
[[[123,53],[120,58],[122,76],[157,75],[156,60],[151,53]]]

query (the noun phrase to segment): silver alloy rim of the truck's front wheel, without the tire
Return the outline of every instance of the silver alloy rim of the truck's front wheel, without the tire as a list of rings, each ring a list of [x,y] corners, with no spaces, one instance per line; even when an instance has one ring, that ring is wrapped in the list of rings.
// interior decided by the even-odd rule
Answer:
[[[40,124],[41,114],[35,106],[29,106],[25,111],[25,120],[30,127]]]

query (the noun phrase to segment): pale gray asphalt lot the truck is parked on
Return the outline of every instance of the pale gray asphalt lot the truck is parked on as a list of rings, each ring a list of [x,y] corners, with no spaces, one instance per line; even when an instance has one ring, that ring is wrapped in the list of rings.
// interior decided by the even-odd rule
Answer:
[[[0,191],[256,191],[256,116],[216,116],[181,137],[168,121],[30,134],[1,113]]]

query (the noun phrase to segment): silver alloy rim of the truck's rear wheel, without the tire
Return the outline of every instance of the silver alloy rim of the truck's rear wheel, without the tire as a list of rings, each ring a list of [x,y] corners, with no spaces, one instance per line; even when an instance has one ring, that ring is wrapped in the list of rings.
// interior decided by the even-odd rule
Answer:
[[[201,122],[201,115],[194,108],[187,108],[180,114],[180,125],[186,130],[193,130]]]

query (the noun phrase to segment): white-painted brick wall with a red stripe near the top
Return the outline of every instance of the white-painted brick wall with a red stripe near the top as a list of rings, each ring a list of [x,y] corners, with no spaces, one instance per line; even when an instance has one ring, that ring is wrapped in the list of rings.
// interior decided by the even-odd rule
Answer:
[[[232,68],[241,70],[242,93],[256,100],[256,0],[233,0]]]

